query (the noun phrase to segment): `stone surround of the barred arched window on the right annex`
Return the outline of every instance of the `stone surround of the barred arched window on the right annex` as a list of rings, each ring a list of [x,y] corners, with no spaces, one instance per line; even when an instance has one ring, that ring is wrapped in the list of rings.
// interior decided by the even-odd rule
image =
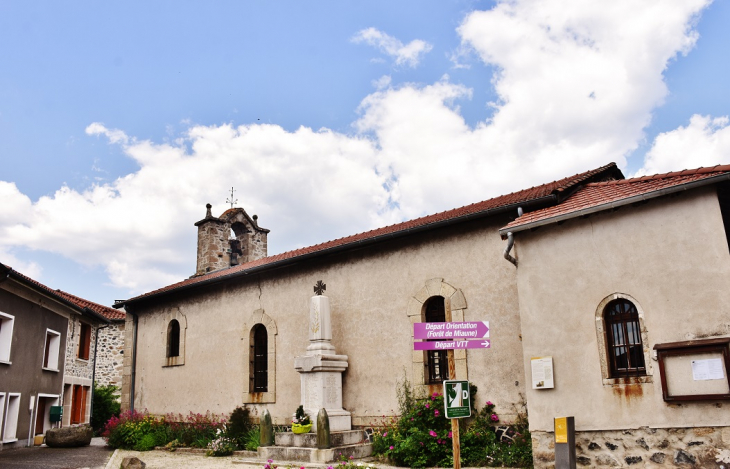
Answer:
[[[646,367],[646,374],[643,376],[630,376],[630,377],[611,377],[611,364],[608,362],[608,338],[606,337],[606,321],[604,314],[606,306],[614,300],[626,300],[630,301],[636,311],[639,314],[639,327],[641,329],[641,343],[644,351],[644,366]],[[653,382],[653,367],[651,361],[651,350],[649,349],[649,334],[644,323],[644,310],[642,309],[639,302],[631,295],[626,293],[612,293],[601,300],[598,303],[598,307],[595,312],[596,321],[596,338],[598,342],[598,357],[601,364],[601,378],[603,384],[606,386],[614,386],[620,384],[629,383],[651,383]]]

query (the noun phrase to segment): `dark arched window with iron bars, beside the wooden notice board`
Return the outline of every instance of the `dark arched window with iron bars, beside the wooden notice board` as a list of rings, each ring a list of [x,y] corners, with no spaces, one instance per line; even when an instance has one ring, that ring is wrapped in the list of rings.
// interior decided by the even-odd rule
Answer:
[[[646,375],[639,312],[626,299],[613,300],[603,312],[611,378]]]

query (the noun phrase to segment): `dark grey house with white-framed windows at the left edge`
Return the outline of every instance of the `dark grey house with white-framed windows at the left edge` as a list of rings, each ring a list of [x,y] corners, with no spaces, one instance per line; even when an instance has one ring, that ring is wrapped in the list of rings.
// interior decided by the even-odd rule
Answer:
[[[0,264],[0,449],[32,445],[51,428],[88,424],[96,331],[108,320],[72,297]]]

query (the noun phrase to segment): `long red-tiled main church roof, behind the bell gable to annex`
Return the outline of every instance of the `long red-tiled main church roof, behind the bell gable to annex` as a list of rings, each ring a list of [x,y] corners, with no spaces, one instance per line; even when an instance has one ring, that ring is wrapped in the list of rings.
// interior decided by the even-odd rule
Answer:
[[[581,184],[594,180],[623,179],[623,177],[621,170],[618,169],[616,164],[609,163],[605,166],[601,166],[600,168],[559,179],[547,184],[542,184],[540,186],[531,187],[518,192],[512,192],[483,202],[477,202],[453,210],[447,210],[445,212],[416,218],[414,220],[378,228],[365,233],[327,241],[314,246],[283,252],[281,254],[264,257],[235,267],[217,270],[198,277],[192,277],[187,280],[183,280],[182,282],[168,285],[128,300],[117,302],[114,307],[119,308],[141,300],[149,300],[153,297],[180,292],[190,288],[198,288],[211,283],[225,281],[237,276],[250,275],[263,270],[278,268],[283,265],[301,262],[312,257],[332,254],[334,252],[340,252],[348,249],[356,249],[367,244],[386,241],[395,237],[412,234],[417,231],[435,229],[452,223],[464,222],[476,218],[495,215],[497,213],[504,213],[506,211],[514,210],[517,206],[544,206],[547,204],[554,204],[572,193],[572,191]]]

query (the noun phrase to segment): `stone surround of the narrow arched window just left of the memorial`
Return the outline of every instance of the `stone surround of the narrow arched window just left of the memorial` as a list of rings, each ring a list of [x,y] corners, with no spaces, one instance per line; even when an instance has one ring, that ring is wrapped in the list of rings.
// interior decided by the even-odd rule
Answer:
[[[268,360],[267,360],[267,383],[266,392],[253,392],[251,389],[251,377],[253,368],[251,362],[253,357],[254,329],[257,325],[263,325],[266,328]],[[243,325],[243,334],[241,340],[245,345],[243,369],[248,370],[245,374],[246,382],[243,383],[243,400],[244,404],[273,404],[276,402],[276,336],[279,333],[276,327],[276,321],[266,314],[263,309],[257,309],[251,314]]]

